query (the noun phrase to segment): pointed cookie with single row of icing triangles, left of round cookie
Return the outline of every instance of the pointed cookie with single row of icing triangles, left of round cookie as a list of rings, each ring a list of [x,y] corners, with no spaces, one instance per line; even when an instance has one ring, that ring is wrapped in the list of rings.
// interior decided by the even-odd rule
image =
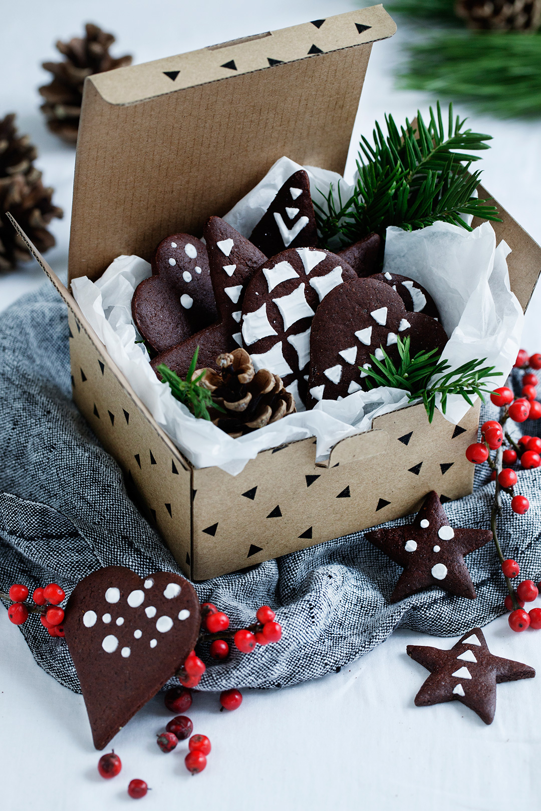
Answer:
[[[216,369],[217,355],[232,352],[241,345],[240,319],[244,290],[266,257],[221,217],[210,217],[203,234],[219,321],[157,355],[152,360],[155,371],[160,363],[165,363],[165,366],[185,377],[198,346],[197,366],[200,369]]]

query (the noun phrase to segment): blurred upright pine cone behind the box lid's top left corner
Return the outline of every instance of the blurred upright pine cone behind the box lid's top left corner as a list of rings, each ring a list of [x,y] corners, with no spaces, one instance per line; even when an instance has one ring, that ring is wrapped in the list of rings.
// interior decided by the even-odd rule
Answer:
[[[40,88],[41,96],[45,98],[41,109],[49,130],[69,144],[75,144],[77,140],[84,79],[94,73],[131,65],[131,56],[114,59],[109,54],[114,43],[113,34],[92,23],[87,23],[85,29],[84,39],[75,36],[69,42],[57,42],[57,49],[66,57],[63,62],[43,62],[45,71],[50,71],[54,78]]]

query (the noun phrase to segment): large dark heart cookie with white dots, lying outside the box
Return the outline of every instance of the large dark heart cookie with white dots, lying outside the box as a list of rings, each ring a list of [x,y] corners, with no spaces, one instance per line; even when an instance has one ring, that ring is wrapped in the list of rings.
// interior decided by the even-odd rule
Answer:
[[[108,566],[75,586],[64,631],[94,746],[103,749],[194,649],[200,603],[178,574],[142,579]]]

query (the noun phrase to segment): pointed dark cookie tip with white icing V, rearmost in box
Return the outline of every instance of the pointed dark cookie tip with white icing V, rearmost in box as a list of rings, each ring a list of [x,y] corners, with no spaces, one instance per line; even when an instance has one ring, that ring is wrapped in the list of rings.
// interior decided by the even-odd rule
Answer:
[[[273,202],[251,232],[250,242],[267,256],[274,256],[286,248],[317,245],[310,181],[304,169],[292,174],[277,191]]]

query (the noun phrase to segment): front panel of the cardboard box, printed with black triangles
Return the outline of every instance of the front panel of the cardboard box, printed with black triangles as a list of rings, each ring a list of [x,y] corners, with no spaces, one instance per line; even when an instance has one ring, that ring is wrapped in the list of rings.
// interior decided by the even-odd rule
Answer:
[[[474,469],[465,451],[478,427],[479,405],[457,427],[439,411],[429,425],[423,405],[414,405],[377,418],[374,431],[359,435],[353,461],[342,449],[328,469],[316,466],[309,439],[260,453],[235,477],[194,470],[195,580],[413,513],[431,490],[444,500],[466,496]]]

